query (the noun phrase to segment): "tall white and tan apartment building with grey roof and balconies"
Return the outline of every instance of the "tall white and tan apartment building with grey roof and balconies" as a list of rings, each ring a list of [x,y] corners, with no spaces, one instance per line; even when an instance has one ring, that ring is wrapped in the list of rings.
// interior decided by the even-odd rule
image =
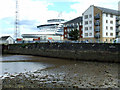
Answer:
[[[120,12],[91,5],[83,13],[83,38],[89,42],[111,43],[120,37]]]

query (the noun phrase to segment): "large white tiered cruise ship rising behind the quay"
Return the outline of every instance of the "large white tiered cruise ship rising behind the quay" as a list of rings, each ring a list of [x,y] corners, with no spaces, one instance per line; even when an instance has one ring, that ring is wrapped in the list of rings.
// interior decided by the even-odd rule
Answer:
[[[47,21],[47,24],[37,26],[37,28],[39,29],[38,32],[22,34],[23,40],[24,41],[63,40],[64,22],[65,22],[64,19],[50,19]]]

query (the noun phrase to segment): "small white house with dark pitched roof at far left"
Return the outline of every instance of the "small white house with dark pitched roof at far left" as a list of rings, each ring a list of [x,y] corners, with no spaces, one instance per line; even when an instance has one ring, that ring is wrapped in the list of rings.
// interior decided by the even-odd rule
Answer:
[[[11,36],[2,36],[0,38],[0,44],[13,44],[14,39]]]

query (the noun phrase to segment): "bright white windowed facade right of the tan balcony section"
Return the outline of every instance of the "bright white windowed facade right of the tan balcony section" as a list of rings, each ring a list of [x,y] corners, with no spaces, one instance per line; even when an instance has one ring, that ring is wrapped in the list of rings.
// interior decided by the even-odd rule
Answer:
[[[103,37],[116,37],[116,15],[110,17],[111,14],[103,13],[102,15],[102,36]]]

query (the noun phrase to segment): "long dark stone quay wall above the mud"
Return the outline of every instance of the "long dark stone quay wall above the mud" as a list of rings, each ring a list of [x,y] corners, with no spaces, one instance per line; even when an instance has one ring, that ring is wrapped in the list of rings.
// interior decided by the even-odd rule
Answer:
[[[106,43],[34,43],[11,44],[9,54],[38,55],[82,61],[120,62],[120,44]]]

